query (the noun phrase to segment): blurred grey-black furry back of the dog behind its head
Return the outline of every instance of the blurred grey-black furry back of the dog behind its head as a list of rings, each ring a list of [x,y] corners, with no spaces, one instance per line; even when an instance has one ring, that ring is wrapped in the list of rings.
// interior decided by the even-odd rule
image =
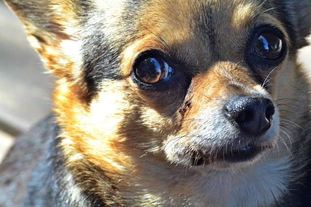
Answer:
[[[17,139],[0,165],[0,206],[90,206],[83,193],[73,196],[76,183],[64,164],[58,133],[51,115]]]

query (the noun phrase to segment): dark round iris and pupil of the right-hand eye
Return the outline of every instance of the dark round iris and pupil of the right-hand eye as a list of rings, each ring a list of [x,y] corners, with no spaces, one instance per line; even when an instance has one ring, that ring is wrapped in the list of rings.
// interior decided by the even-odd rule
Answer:
[[[276,58],[282,49],[282,41],[273,33],[261,33],[254,52],[264,58]]]

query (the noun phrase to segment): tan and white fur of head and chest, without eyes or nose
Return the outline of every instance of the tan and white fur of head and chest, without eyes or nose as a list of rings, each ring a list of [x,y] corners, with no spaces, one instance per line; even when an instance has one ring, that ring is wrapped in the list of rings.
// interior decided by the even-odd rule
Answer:
[[[97,203],[112,206],[270,206],[286,202],[305,176],[310,80],[296,50],[310,32],[310,0],[141,0],[133,8],[126,0],[5,2],[56,74],[53,111],[73,195],[96,194]],[[245,61],[247,42],[255,25],[266,24],[284,34],[288,51],[273,70],[254,72]],[[87,66],[85,54],[104,49],[92,44],[93,33],[103,33],[111,50],[91,53]],[[139,88],[132,66],[149,49],[179,60],[192,77],[189,87]],[[117,78],[96,79],[94,72],[93,91],[88,67],[109,55],[115,62],[102,69],[114,65]],[[274,101],[272,126],[260,137],[239,137],[222,109],[235,96],[255,94]],[[250,142],[267,149],[244,162],[221,159]],[[198,152],[206,162],[193,166]]]

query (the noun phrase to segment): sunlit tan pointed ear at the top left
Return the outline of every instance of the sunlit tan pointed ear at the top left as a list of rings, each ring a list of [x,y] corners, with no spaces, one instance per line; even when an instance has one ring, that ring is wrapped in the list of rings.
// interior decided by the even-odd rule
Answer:
[[[79,25],[79,7],[76,4],[80,1],[4,1],[23,22],[28,39],[45,66],[61,77],[70,76],[69,69],[64,67],[70,60],[61,45],[64,41],[72,43],[77,40],[75,25]]]

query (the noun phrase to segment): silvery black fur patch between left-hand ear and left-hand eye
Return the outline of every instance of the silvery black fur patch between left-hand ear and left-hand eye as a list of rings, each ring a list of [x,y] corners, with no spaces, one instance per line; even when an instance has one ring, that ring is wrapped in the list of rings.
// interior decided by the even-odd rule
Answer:
[[[120,16],[120,22],[114,27],[122,27],[120,33],[108,36],[103,31],[109,30],[105,25],[105,11],[91,10],[86,14],[83,40],[83,62],[84,80],[87,83],[89,100],[100,90],[100,83],[103,80],[120,80],[124,78],[120,73],[120,54],[127,46],[126,44],[135,37],[137,33],[137,20],[135,13],[139,11],[142,3],[129,0],[124,3],[124,16]],[[90,10],[86,10],[90,11]],[[93,18],[95,16],[95,18]],[[98,21],[102,19],[102,21]],[[125,32],[126,31],[126,32]]]

